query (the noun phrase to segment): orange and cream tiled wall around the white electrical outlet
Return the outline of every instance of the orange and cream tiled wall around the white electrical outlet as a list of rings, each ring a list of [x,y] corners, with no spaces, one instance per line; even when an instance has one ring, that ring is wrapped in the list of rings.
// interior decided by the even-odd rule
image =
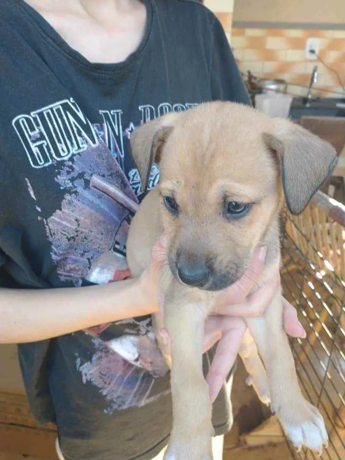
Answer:
[[[320,58],[338,71],[345,86],[345,30],[233,28],[231,45],[243,72],[250,70],[258,77],[283,78],[289,83],[290,93],[305,95],[312,68],[317,65],[315,93],[322,97],[345,97],[334,71],[321,62],[305,59],[308,37],[320,38]]]

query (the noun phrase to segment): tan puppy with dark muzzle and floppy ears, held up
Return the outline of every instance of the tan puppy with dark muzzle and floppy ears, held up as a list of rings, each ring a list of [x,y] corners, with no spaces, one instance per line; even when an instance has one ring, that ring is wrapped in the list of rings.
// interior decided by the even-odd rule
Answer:
[[[148,266],[157,237],[169,235],[162,289],[172,340],[173,430],[165,458],[210,460],[213,429],[202,342],[216,291],[242,276],[260,245],[267,247],[260,284],[273,277],[284,196],[292,213],[302,212],[335,167],[336,153],[287,120],[222,102],[164,115],[137,128],[131,143],[144,188],[152,161],[161,172],[130,227],[127,258],[134,276]],[[327,432],[299,388],[282,309],[279,292],[263,318],[247,320],[267,379],[250,334],[242,358],[288,438],[321,451]]]

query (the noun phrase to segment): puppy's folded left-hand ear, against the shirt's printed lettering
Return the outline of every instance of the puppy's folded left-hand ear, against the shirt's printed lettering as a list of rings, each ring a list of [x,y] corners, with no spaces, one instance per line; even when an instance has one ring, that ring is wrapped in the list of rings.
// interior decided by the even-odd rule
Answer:
[[[159,164],[162,150],[176,119],[176,113],[167,113],[153,121],[138,126],[131,135],[133,159],[141,178],[142,190],[146,191],[152,163]]]

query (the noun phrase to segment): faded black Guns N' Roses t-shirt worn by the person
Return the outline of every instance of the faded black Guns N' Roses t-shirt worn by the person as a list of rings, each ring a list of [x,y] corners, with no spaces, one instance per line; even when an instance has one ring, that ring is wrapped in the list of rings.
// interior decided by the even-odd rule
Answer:
[[[1,286],[128,277],[127,232],[143,196],[129,152],[135,127],[204,101],[248,103],[210,11],[194,1],[145,4],[137,51],[92,64],[23,0],[1,0]],[[158,179],[153,166],[150,188]],[[166,444],[169,373],[150,317],[20,345],[19,355],[33,414],[58,424],[66,460],[145,460]],[[225,387],[217,404],[219,434],[231,423]]]

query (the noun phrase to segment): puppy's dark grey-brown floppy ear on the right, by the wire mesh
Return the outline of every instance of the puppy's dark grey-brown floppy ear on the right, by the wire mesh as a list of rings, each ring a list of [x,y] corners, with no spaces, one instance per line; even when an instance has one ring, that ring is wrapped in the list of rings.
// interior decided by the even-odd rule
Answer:
[[[330,143],[287,120],[276,121],[273,132],[263,136],[278,156],[287,207],[298,215],[332,174],[338,161],[336,151]]]

